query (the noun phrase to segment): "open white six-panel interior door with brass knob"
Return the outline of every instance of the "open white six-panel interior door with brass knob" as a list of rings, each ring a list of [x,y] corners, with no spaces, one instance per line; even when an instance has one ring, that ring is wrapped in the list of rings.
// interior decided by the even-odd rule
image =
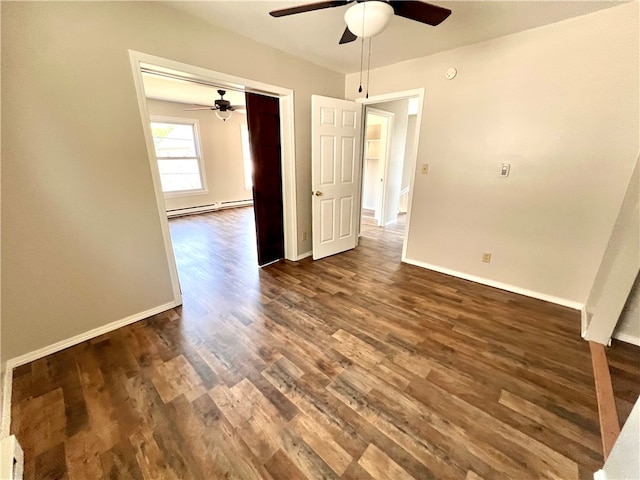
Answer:
[[[360,215],[362,105],[311,97],[313,259],[355,248]]]

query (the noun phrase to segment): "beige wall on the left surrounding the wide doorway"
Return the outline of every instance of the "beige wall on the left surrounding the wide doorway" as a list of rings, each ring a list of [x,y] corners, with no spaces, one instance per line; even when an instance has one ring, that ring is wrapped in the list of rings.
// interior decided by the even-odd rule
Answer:
[[[4,358],[172,300],[128,49],[295,91],[310,232],[310,95],[342,75],[156,2],[1,8]]]

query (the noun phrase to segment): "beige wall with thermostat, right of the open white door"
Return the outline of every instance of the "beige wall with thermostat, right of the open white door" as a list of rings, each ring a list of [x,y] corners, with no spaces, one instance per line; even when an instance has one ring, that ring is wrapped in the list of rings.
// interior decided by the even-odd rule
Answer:
[[[408,258],[586,301],[638,155],[638,23],[632,2],[371,72],[370,95],[426,91]]]

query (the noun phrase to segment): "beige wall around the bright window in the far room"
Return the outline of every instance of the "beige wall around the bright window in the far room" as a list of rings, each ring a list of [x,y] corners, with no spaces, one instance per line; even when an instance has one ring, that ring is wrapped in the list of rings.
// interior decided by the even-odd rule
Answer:
[[[185,112],[187,106],[182,103],[148,99],[147,106],[150,115],[198,120],[200,130],[208,192],[165,197],[167,210],[252,198],[251,189],[244,188],[240,138],[240,126],[247,124],[246,115],[235,113],[223,122],[211,110]]]

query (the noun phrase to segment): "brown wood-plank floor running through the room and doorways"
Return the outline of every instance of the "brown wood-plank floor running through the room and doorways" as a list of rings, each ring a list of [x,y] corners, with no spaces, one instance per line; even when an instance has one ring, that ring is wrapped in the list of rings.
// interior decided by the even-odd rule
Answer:
[[[170,224],[181,309],[14,371],[26,479],[574,479],[601,467],[577,312],[401,264],[401,224],[263,269],[250,208]],[[640,362],[620,352],[626,408]]]

